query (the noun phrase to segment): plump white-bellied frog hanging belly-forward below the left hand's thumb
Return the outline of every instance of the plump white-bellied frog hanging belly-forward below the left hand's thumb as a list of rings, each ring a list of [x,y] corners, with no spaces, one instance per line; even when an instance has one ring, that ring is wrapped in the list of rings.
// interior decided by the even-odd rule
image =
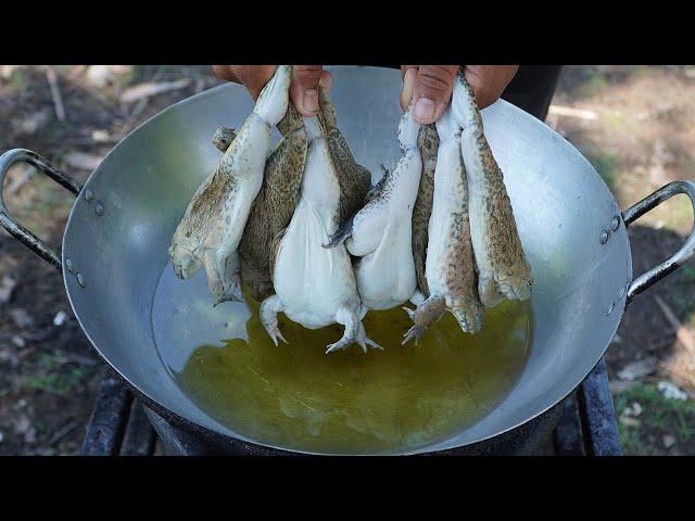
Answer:
[[[367,338],[362,323],[366,308],[357,293],[348,251],[342,244],[324,247],[338,229],[342,208],[354,204],[345,199],[355,195],[343,192],[345,179],[341,182],[340,177],[346,175],[345,169],[333,163],[324,115],[319,112],[305,117],[304,126],[308,150],[300,198],[289,226],[271,252],[275,293],[261,304],[261,322],[276,345],[278,340],[287,343],[277,318],[285,313],[308,329],[342,325],[343,335],[326,346],[326,354],[346,350],[354,343],[365,353],[368,348],[382,348]]]

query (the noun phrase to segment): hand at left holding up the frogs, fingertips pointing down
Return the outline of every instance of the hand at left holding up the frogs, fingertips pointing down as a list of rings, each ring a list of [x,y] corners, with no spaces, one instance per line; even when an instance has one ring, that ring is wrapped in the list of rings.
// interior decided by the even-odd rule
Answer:
[[[213,65],[217,77],[243,85],[254,100],[275,74],[277,65]],[[333,78],[321,65],[292,65],[290,100],[296,111],[312,117],[318,114],[318,88],[328,92]]]

